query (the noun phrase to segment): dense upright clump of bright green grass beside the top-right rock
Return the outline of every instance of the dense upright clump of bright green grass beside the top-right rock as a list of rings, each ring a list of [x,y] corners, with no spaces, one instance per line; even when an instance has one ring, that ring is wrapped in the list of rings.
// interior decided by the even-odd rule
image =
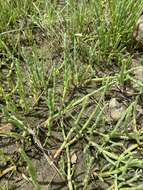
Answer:
[[[122,49],[131,41],[142,1],[95,1],[94,14],[102,51]]]

